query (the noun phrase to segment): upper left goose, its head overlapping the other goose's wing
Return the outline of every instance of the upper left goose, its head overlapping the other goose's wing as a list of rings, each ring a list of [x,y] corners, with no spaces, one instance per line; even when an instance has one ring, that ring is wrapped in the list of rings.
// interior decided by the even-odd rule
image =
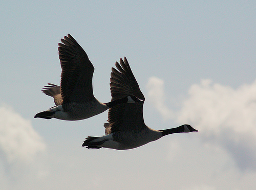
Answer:
[[[70,35],[59,43],[61,64],[60,86],[48,83],[42,92],[53,97],[55,106],[37,113],[34,117],[59,120],[83,120],[122,103],[142,101],[133,95],[127,95],[108,103],[101,103],[93,96],[92,77],[94,67],[86,52]]]

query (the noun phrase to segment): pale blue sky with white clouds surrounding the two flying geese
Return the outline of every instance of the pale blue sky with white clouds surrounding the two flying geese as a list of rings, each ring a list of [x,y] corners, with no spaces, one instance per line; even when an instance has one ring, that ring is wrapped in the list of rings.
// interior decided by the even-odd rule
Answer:
[[[256,188],[255,1],[3,1],[0,8],[1,189]],[[58,43],[71,34],[111,100],[124,56],[153,129],[190,124],[132,150],[81,147],[108,111],[82,121],[33,118],[54,106]]]

